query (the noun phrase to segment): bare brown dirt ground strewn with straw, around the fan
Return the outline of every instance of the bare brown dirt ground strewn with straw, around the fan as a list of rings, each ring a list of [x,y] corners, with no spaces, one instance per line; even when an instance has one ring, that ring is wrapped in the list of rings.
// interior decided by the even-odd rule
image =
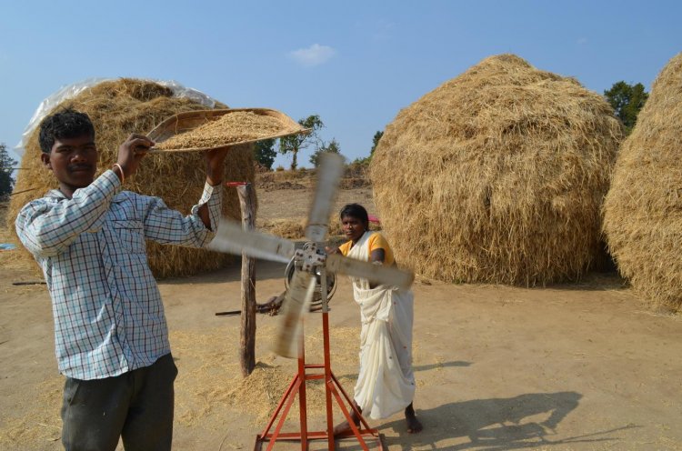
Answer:
[[[258,192],[261,218],[303,217],[310,190]],[[374,212],[371,188],[338,204]],[[0,251],[0,259],[8,260]],[[55,450],[63,378],[52,314],[35,272],[0,261],[0,450]],[[258,262],[256,294],[284,289],[284,265]],[[174,448],[253,449],[296,362],[269,350],[277,316],[257,318],[254,374],[239,375],[238,265],[160,282],[176,380]],[[421,434],[398,414],[369,420],[389,450],[680,450],[682,317],[649,312],[615,273],[579,284],[519,288],[449,285],[417,278],[415,406]],[[332,368],[352,394],[359,314],[345,277],[331,301]],[[321,363],[321,321],[306,322],[306,358]],[[309,430],[325,427],[319,384],[308,390]],[[297,402],[286,430],[298,430]],[[336,418],[339,418],[336,409]],[[676,426],[677,425],[677,426]],[[344,440],[338,449],[360,449]],[[300,449],[277,444],[276,449]],[[370,448],[372,448],[370,446]],[[311,449],[326,449],[314,442]]]

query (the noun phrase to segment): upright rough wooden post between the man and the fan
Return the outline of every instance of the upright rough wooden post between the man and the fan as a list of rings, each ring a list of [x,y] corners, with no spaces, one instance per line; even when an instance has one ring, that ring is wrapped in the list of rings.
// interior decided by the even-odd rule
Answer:
[[[236,186],[242,210],[242,227],[256,228],[256,194],[250,183]],[[256,367],[256,258],[242,253],[242,330],[239,356],[242,376],[246,377]]]

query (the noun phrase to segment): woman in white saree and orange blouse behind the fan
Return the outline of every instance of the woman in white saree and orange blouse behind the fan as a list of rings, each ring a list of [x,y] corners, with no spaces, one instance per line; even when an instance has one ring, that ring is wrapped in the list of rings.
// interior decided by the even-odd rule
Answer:
[[[369,231],[365,207],[349,204],[341,210],[341,224],[348,242],[329,249],[376,265],[395,265],[393,252],[383,236]],[[356,303],[360,306],[360,373],[355,387],[355,403],[360,412],[373,419],[386,418],[405,409],[407,432],[416,433],[422,425],[416,419],[412,399],[415,376],[412,371],[411,291],[392,286],[376,286],[366,279],[351,277]],[[359,419],[353,412],[353,421]],[[348,422],[334,429],[335,436],[351,430]]]

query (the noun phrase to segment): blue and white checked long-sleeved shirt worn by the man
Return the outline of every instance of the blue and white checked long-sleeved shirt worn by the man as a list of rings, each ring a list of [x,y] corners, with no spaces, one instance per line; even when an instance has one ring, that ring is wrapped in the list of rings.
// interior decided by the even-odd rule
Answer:
[[[206,184],[188,216],[158,197],[116,193],[119,186],[115,173],[105,171],[72,199],[53,190],[25,205],[15,222],[52,297],[59,371],[76,379],[118,376],[170,352],[145,238],[202,247],[217,230],[220,186]],[[196,215],[203,204],[212,231]]]

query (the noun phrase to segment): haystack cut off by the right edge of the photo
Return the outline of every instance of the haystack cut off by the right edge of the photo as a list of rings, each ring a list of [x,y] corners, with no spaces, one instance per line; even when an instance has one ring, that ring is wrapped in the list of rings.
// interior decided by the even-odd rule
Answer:
[[[604,205],[618,270],[653,307],[682,308],[682,54],[658,75],[620,148]]]

